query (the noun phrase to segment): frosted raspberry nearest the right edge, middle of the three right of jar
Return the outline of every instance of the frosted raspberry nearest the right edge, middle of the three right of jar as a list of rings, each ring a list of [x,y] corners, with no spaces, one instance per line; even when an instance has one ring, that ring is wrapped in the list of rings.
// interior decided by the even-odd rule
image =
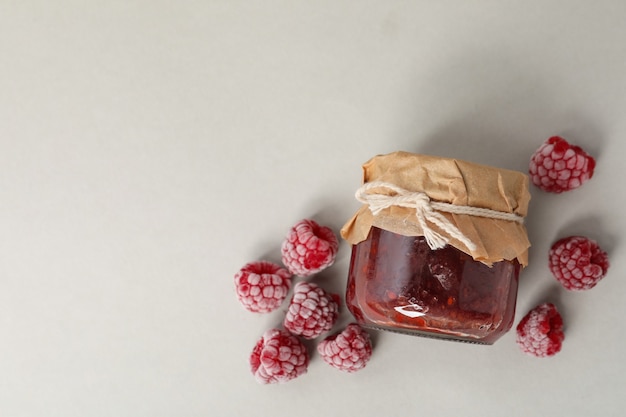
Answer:
[[[568,290],[595,287],[609,269],[609,258],[598,244],[583,236],[557,241],[549,253],[550,271]]]

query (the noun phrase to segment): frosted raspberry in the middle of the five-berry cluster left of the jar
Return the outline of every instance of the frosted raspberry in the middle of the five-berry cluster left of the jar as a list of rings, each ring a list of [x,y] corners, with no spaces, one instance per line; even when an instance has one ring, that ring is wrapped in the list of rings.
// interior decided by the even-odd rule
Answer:
[[[339,296],[310,282],[294,288],[283,325],[292,334],[313,339],[329,331],[339,317]]]

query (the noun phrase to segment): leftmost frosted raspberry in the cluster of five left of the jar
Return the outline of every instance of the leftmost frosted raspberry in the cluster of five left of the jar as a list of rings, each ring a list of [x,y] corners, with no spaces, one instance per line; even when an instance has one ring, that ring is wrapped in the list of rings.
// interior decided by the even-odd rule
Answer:
[[[291,273],[272,262],[250,262],[235,274],[241,304],[254,313],[277,309],[291,287]]]

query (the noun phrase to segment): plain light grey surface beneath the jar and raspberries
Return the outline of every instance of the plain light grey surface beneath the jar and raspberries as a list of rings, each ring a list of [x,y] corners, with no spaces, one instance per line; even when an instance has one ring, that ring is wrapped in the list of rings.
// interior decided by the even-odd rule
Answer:
[[[623,415],[625,19],[619,0],[2,1],[0,415]],[[362,372],[314,355],[254,381],[284,309],[243,310],[232,277],[301,218],[338,229],[364,161],[526,170],[553,134],[598,161],[575,192],[533,189],[516,322],[557,303],[560,354],[377,333]],[[547,269],[573,233],[611,257],[585,293]],[[343,293],[348,261],[315,281]]]

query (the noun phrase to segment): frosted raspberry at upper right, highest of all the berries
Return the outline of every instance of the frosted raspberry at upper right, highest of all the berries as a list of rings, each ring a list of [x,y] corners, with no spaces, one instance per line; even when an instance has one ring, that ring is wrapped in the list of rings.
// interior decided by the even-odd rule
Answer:
[[[528,172],[537,187],[552,193],[573,190],[593,176],[596,161],[579,146],[553,136],[530,158]]]

